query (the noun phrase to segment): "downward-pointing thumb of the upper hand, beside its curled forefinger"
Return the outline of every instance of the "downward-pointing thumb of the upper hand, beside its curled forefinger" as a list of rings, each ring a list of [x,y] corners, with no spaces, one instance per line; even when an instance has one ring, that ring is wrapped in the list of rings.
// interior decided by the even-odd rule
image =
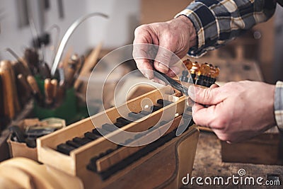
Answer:
[[[171,52],[170,47],[168,47],[167,44],[162,44],[161,42],[160,45],[161,46],[158,47],[158,51],[154,60],[154,68],[166,74],[169,71],[171,58],[174,53]]]

